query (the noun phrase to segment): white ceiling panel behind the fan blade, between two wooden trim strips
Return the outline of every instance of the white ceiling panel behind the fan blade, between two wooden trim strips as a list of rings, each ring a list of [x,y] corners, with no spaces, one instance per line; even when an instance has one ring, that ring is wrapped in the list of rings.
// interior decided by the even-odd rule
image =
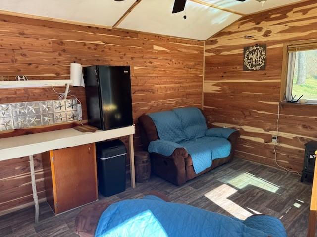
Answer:
[[[172,14],[172,9],[172,0],[143,0],[118,27],[206,40],[212,32],[218,32],[240,18],[240,15],[192,1],[186,2],[186,20],[184,12]]]

